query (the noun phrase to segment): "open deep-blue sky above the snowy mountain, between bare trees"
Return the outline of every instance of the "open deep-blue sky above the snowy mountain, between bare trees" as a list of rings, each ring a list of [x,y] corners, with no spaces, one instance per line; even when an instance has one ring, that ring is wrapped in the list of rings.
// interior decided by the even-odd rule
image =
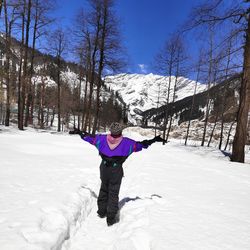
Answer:
[[[187,18],[201,0],[117,0],[115,10],[121,20],[124,45],[131,73],[151,73],[155,54],[168,36]],[[63,26],[70,26],[86,0],[60,0],[56,15]]]

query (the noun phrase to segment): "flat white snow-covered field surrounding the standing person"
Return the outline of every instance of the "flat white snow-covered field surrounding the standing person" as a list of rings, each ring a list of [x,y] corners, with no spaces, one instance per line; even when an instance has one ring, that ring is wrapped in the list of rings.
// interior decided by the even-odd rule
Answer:
[[[96,216],[94,147],[76,135],[0,129],[1,250],[250,249],[249,163],[177,142],[134,153],[120,222],[107,227]]]

